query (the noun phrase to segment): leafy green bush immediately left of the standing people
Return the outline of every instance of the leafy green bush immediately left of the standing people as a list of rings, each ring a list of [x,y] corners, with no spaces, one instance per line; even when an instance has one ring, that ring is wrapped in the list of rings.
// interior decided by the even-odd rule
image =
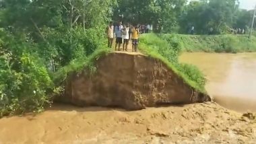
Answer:
[[[60,69],[69,65],[74,59],[92,55],[97,48],[104,47],[106,39],[98,29],[75,27],[70,32],[68,28],[44,28],[46,42],[40,42],[40,55],[49,63],[52,57],[55,67]]]

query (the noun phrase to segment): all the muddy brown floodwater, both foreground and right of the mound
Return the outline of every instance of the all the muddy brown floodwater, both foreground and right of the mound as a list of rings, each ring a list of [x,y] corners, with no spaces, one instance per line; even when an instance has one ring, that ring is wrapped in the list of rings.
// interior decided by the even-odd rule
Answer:
[[[208,102],[129,112],[53,104],[40,114],[1,118],[0,144],[255,144],[256,114],[247,118],[240,112],[256,112],[256,53],[184,53],[181,61],[203,71],[207,92],[222,106]]]

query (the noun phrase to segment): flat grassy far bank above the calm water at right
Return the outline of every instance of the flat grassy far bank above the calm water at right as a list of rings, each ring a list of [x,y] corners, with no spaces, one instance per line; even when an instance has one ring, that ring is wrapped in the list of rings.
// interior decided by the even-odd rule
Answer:
[[[248,35],[160,34],[164,40],[178,42],[186,52],[256,52],[256,37]]]

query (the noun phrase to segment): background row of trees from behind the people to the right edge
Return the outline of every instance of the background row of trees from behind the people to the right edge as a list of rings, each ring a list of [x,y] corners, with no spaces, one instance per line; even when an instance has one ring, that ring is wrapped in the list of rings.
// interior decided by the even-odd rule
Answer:
[[[196,34],[229,32],[241,28],[249,30],[253,11],[238,8],[238,0],[118,0],[115,20],[132,24],[153,24],[160,32],[189,32]]]

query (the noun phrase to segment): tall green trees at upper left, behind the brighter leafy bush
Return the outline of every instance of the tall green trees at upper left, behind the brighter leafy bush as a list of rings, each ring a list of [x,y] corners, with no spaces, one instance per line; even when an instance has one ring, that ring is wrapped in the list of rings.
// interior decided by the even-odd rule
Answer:
[[[55,61],[61,67],[99,46],[115,4],[113,0],[3,0],[0,26],[25,34],[42,46],[39,52],[46,64]]]

